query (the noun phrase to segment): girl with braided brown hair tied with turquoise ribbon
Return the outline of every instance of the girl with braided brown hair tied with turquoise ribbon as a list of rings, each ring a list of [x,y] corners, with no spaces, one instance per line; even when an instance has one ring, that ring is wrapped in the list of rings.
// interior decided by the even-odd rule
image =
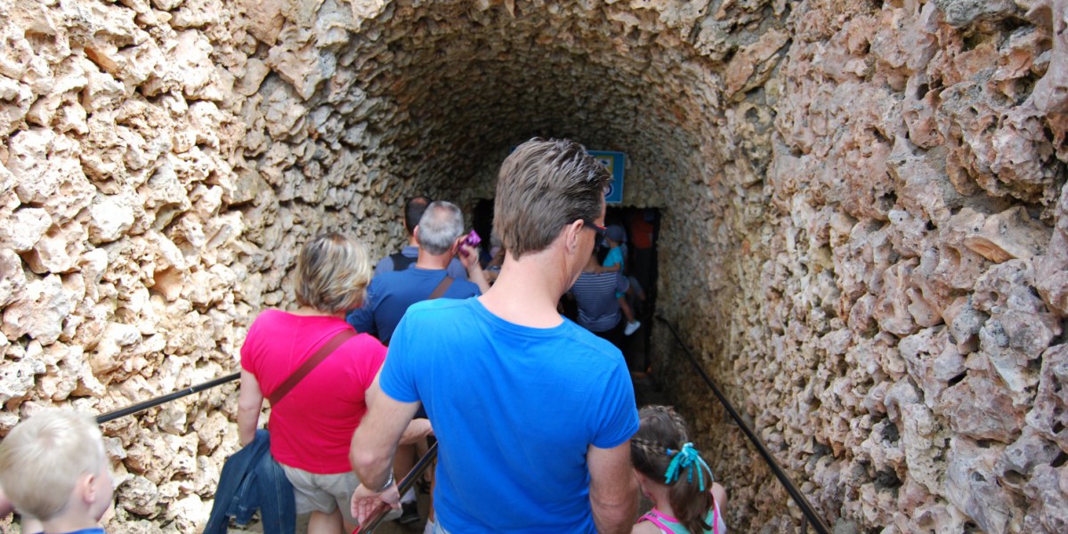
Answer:
[[[638,412],[630,460],[653,509],[638,519],[634,534],[726,534],[720,506],[726,491],[690,443],[686,421],[668,406]]]

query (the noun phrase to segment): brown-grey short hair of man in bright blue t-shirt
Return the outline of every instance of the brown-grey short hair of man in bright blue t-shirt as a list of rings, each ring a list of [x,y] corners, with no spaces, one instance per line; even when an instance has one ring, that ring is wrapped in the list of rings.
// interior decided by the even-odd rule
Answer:
[[[493,231],[516,260],[544,250],[565,225],[600,217],[611,180],[608,169],[581,144],[531,139],[501,166]]]

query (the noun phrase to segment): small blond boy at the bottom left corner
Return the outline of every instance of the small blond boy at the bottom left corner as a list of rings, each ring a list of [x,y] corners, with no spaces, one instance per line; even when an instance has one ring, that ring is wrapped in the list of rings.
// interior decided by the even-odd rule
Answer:
[[[96,422],[49,409],[16,425],[0,442],[0,487],[44,534],[103,534],[113,488]]]

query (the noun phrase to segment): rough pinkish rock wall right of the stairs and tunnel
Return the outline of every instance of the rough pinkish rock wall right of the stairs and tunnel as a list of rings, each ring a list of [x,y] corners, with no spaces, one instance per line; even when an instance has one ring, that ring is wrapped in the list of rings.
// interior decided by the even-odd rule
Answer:
[[[710,232],[666,221],[666,315],[846,532],[1065,532],[1068,4],[789,7],[723,70],[769,75],[726,95]],[[799,532],[658,341],[742,530]]]

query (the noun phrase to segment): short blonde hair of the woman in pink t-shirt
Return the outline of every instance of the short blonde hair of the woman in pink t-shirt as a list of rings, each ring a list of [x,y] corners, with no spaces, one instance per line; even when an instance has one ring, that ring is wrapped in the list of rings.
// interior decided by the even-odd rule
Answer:
[[[336,232],[304,244],[297,258],[297,302],[330,314],[360,308],[371,283],[362,244]]]

